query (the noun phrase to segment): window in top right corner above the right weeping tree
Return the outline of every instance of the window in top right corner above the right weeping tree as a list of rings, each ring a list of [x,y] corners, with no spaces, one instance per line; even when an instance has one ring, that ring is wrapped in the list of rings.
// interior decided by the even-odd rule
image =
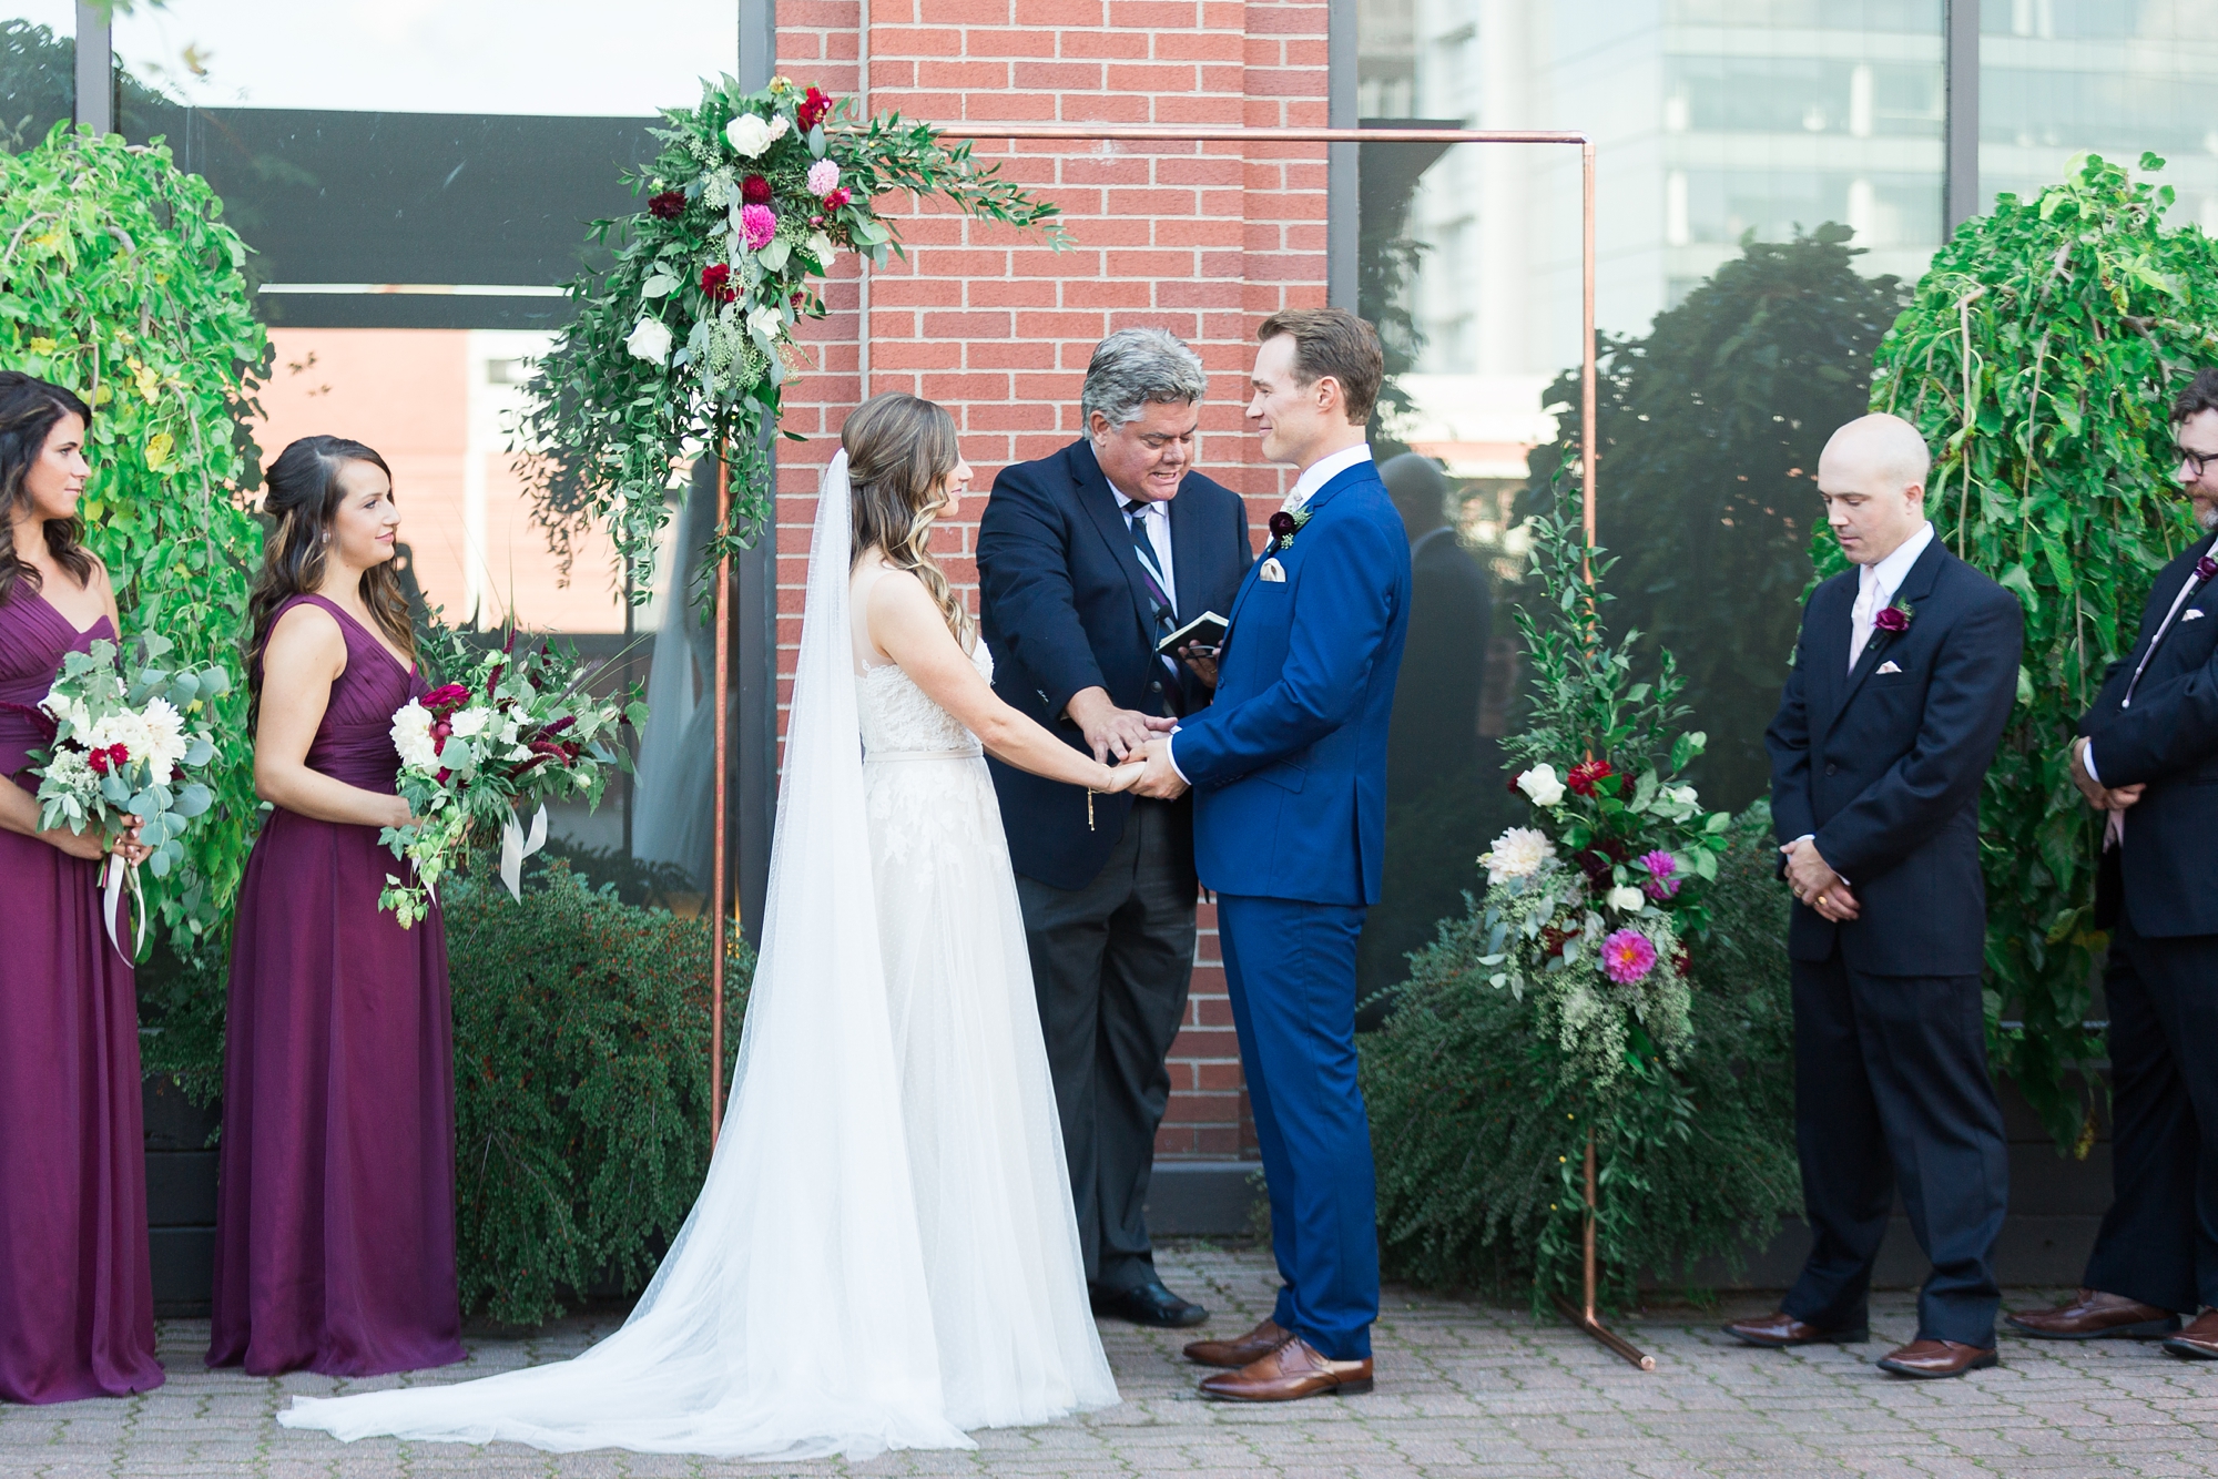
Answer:
[[[2076,153],[2165,157],[2176,224],[2218,231],[2218,29],[2174,0],[1985,0],[1978,184],[2032,195]]]

